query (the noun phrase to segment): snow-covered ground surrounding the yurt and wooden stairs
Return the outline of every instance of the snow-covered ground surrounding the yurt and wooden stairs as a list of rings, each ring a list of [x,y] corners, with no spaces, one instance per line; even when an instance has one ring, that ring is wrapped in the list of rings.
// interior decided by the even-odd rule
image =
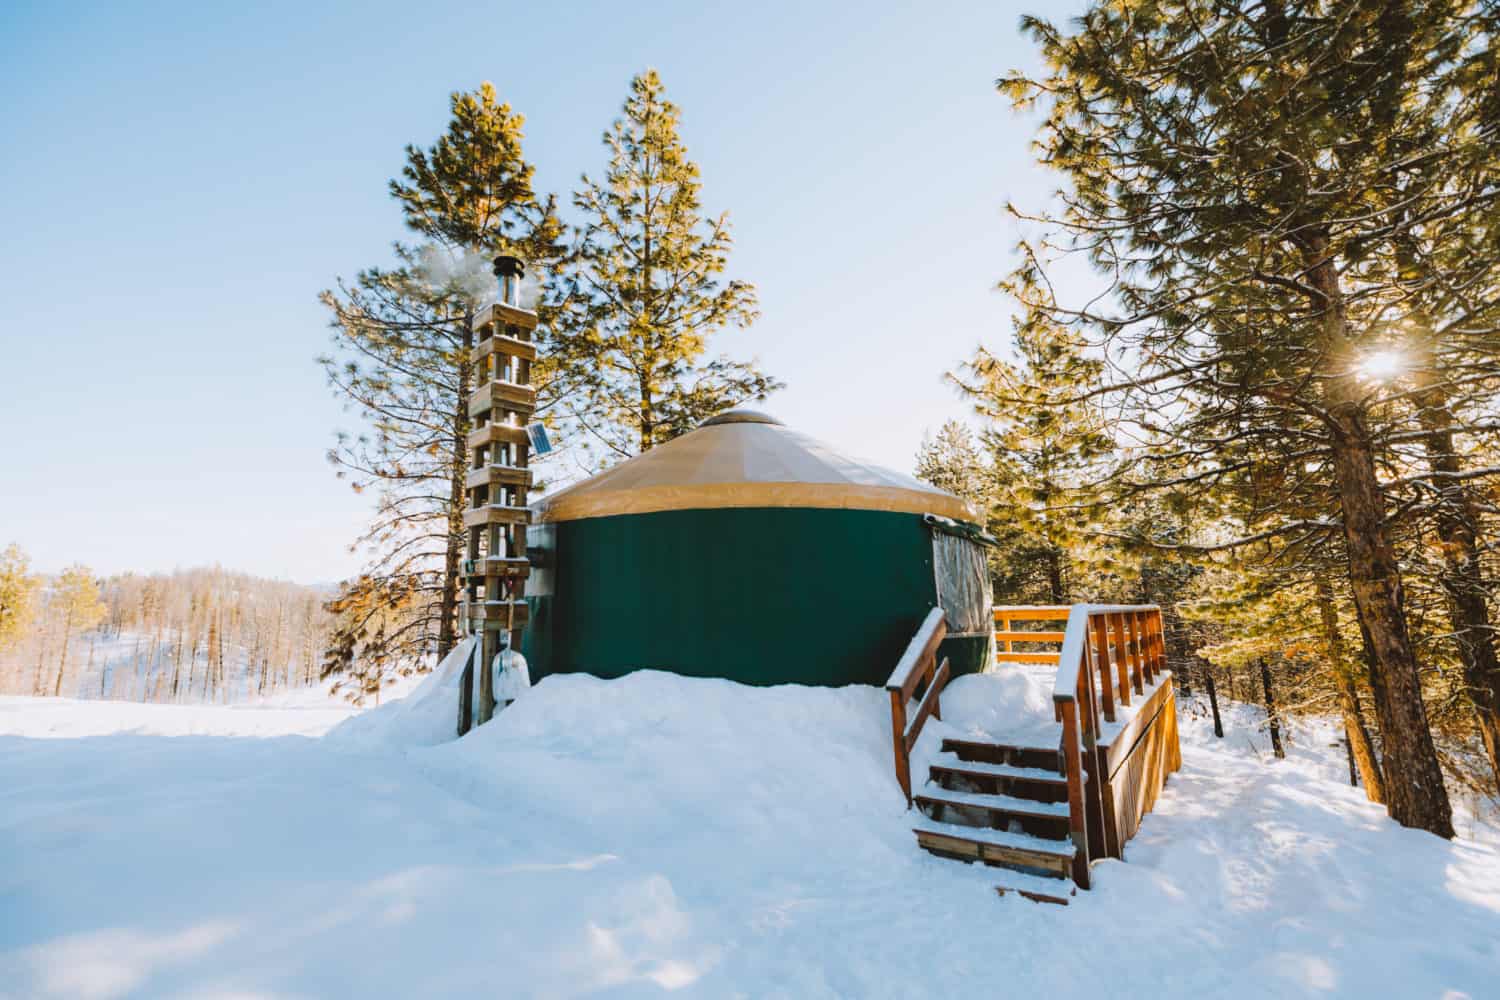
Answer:
[[[1270,762],[1185,706],[1128,864],[1048,907],[916,849],[884,691],[561,676],[435,742],[446,684],[0,699],[0,996],[1500,996],[1500,825],[1396,828],[1324,727]],[[1042,684],[954,682],[914,771]]]

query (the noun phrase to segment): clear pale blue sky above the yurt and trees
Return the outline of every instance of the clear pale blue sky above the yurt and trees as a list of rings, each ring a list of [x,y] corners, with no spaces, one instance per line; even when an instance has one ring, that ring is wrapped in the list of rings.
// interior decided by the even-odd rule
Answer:
[[[0,544],[50,571],[354,571],[318,289],[405,237],[386,181],[450,91],[494,81],[567,202],[645,66],[759,288],[717,346],[788,382],[789,424],[909,471],[964,415],[942,373],[1006,336],[1004,204],[1054,186],[993,88],[1035,64],[1038,7],[0,6]]]

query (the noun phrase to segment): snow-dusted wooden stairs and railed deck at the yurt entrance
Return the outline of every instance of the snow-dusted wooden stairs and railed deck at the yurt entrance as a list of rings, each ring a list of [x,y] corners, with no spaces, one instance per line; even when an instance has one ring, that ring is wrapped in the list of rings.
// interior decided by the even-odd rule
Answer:
[[[1000,657],[1016,652],[1012,642],[1060,642],[1056,652],[1024,654],[1032,663],[1046,657],[1059,666],[1053,697],[1059,724],[1029,729],[1030,742],[944,739],[926,784],[912,792],[909,756],[924,723],[942,718],[939,696],[948,679],[948,663],[938,663],[946,628],[933,609],[886,684],[896,772],[908,804],[921,811],[912,826],[918,846],[1004,870],[996,883],[1000,895],[1065,906],[1077,889],[1089,888],[1090,861],[1124,856],[1124,841],[1167,772],[1179,766],[1176,705],[1158,609],[1077,606],[1035,609],[1030,616],[1028,610],[996,610],[1005,621],[998,636],[1006,636]],[[1068,634],[1010,631],[1012,619],[1062,618]],[[1116,723],[1116,693],[1128,708],[1132,691],[1143,697],[1140,709]],[[914,697],[916,711],[908,723]],[[1052,733],[1056,742],[1036,745]]]

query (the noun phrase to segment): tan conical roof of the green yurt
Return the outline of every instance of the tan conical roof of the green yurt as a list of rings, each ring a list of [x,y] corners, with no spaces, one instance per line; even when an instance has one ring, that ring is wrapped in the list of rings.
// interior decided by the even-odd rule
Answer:
[[[537,501],[540,522],[720,507],[822,507],[975,520],[921,480],[838,454],[753,409],[696,430]]]

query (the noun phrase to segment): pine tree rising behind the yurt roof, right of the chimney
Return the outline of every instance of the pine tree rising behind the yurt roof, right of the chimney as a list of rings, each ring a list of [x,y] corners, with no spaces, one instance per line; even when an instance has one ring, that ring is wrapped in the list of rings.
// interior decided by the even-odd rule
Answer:
[[[604,133],[604,178],[585,175],[573,196],[584,225],[548,351],[578,393],[560,418],[606,460],[780,387],[753,363],[704,357],[716,333],[754,321],[756,297],[752,285],[723,279],[729,216],[704,216],[680,118],[656,70],[636,76],[624,115]]]

